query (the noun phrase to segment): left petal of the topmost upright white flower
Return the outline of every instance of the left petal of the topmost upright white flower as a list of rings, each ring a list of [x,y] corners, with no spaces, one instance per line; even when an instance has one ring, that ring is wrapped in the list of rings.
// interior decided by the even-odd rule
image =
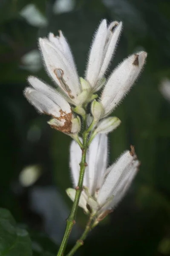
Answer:
[[[95,34],[92,48],[89,55],[89,62],[86,70],[86,80],[93,88],[98,80],[98,74],[101,69],[101,61],[104,51],[104,45],[107,37],[107,22],[102,20]]]

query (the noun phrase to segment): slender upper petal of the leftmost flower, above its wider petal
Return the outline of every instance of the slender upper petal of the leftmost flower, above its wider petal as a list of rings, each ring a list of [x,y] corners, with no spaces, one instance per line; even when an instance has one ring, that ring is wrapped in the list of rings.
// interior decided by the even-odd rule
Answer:
[[[49,99],[51,99],[54,103],[56,103],[63,112],[71,113],[71,107],[69,103],[52,87],[45,84],[43,81],[37,79],[35,76],[28,77],[29,83],[40,93],[46,95]]]

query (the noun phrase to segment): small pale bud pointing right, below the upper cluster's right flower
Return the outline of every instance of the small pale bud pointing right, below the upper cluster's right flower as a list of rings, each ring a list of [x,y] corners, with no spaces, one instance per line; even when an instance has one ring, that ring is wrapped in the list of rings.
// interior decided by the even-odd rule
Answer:
[[[103,119],[101,122],[98,123],[98,126],[95,130],[95,134],[107,134],[113,130],[115,130],[121,124],[121,120],[118,117],[108,117]]]

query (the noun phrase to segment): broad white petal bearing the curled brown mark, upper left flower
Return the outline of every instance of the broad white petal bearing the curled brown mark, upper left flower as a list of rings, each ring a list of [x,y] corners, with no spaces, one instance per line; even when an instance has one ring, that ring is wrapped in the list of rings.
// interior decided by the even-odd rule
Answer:
[[[64,93],[75,101],[81,91],[77,73],[60,49],[54,47],[47,39],[40,38],[39,42],[49,75]]]

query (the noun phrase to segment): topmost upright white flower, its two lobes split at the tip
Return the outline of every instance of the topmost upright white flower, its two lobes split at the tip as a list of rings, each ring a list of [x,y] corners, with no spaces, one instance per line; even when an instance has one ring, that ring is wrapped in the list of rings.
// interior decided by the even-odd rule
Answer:
[[[89,62],[86,70],[86,80],[93,92],[101,87],[101,79],[108,68],[121,33],[122,23],[114,21],[107,27],[107,21],[101,21],[92,42]],[[103,85],[103,84],[102,84]]]

